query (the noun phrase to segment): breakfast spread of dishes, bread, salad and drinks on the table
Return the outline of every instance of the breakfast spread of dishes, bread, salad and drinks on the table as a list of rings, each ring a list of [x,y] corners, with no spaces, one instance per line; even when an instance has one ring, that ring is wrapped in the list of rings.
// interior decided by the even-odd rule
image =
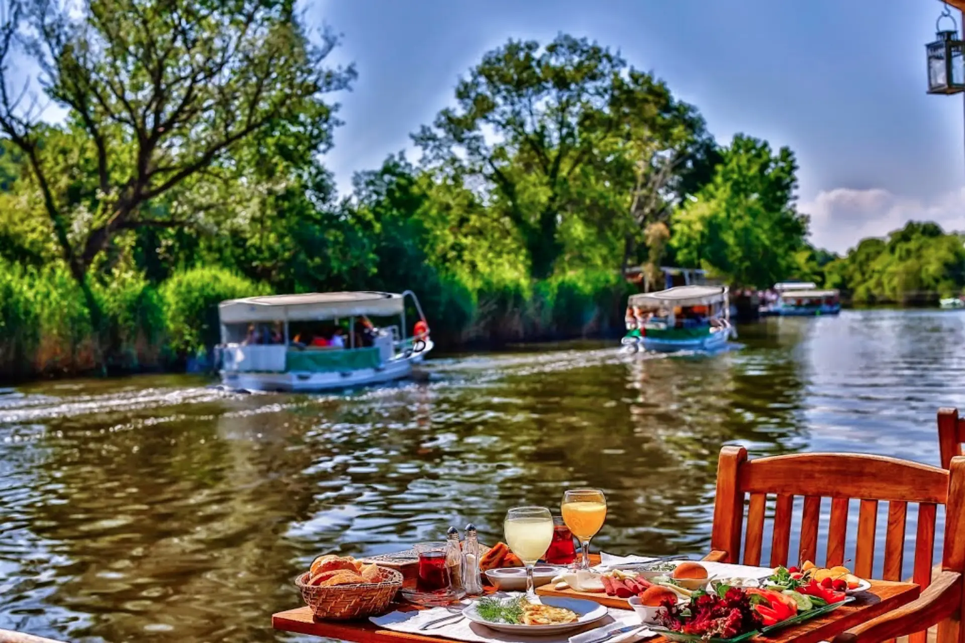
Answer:
[[[567,492],[563,505],[565,525],[586,548],[605,518],[602,494]],[[372,560],[326,554],[318,556],[296,584],[321,619],[383,613],[401,599],[447,608],[442,610],[446,615],[427,619],[426,626],[464,619],[490,630],[540,636],[585,628],[605,618],[608,608],[617,608],[633,610],[640,624],[671,639],[720,639],[719,643],[736,643],[726,639],[767,634],[825,614],[852,601],[848,593],[870,587],[845,567],[820,568],[811,561],[800,569],[778,567],[763,577],[753,569],[751,574],[757,577],[733,576],[748,574],[748,568],[692,560],[658,559],[601,571],[584,555],[566,568],[538,566],[557,537],[556,522],[545,507],[510,509],[504,524],[507,542],[491,549],[479,545],[473,524],[466,527],[464,542],[458,530],[450,527],[445,541],[412,546],[418,560],[411,563],[414,569],[405,570],[407,583],[400,571],[379,567]],[[400,558],[382,554],[373,560],[387,555],[393,561]],[[480,572],[500,593],[487,594],[490,590],[476,586]],[[547,581],[552,585],[545,585]],[[523,588],[522,596],[502,593]],[[454,609],[467,595],[479,598]]]

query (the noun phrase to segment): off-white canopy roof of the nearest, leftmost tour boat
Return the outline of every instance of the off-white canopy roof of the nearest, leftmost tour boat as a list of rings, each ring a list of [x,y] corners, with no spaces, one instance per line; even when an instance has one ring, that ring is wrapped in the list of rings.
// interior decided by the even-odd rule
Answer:
[[[314,321],[353,315],[398,315],[402,296],[393,292],[311,292],[230,299],[218,305],[222,324]]]

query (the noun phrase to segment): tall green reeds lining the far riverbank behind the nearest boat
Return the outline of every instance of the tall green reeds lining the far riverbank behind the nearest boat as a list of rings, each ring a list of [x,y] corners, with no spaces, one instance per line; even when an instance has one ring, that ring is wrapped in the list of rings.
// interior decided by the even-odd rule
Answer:
[[[629,288],[602,271],[475,291],[457,279],[412,286],[443,348],[619,333]],[[115,270],[91,289],[102,318],[97,333],[65,266],[0,264],[0,380],[179,370],[217,343],[219,302],[272,291],[220,267],[182,270],[159,284]]]

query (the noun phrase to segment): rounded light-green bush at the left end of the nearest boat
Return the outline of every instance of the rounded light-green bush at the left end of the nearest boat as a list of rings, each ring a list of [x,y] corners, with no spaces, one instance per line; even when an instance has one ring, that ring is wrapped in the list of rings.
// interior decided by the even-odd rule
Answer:
[[[260,283],[224,268],[192,268],[161,284],[168,346],[179,355],[198,355],[219,340],[218,304],[226,299],[268,294]]]

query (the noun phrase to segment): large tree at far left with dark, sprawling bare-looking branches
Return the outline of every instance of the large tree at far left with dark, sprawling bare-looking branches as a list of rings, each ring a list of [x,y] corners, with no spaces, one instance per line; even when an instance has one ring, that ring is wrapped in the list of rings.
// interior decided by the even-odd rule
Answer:
[[[310,40],[294,0],[12,0],[0,26],[0,133],[31,169],[74,279],[127,230],[186,228],[200,212],[152,203],[231,170],[230,154],[263,129],[336,124],[324,94],[344,89],[350,67],[326,68],[336,39]],[[41,69],[47,98],[68,109],[69,136],[90,178],[62,179],[44,144],[41,103],[16,88],[14,57]],[[216,197],[216,191],[211,191]],[[214,207],[213,203],[207,203]]]

